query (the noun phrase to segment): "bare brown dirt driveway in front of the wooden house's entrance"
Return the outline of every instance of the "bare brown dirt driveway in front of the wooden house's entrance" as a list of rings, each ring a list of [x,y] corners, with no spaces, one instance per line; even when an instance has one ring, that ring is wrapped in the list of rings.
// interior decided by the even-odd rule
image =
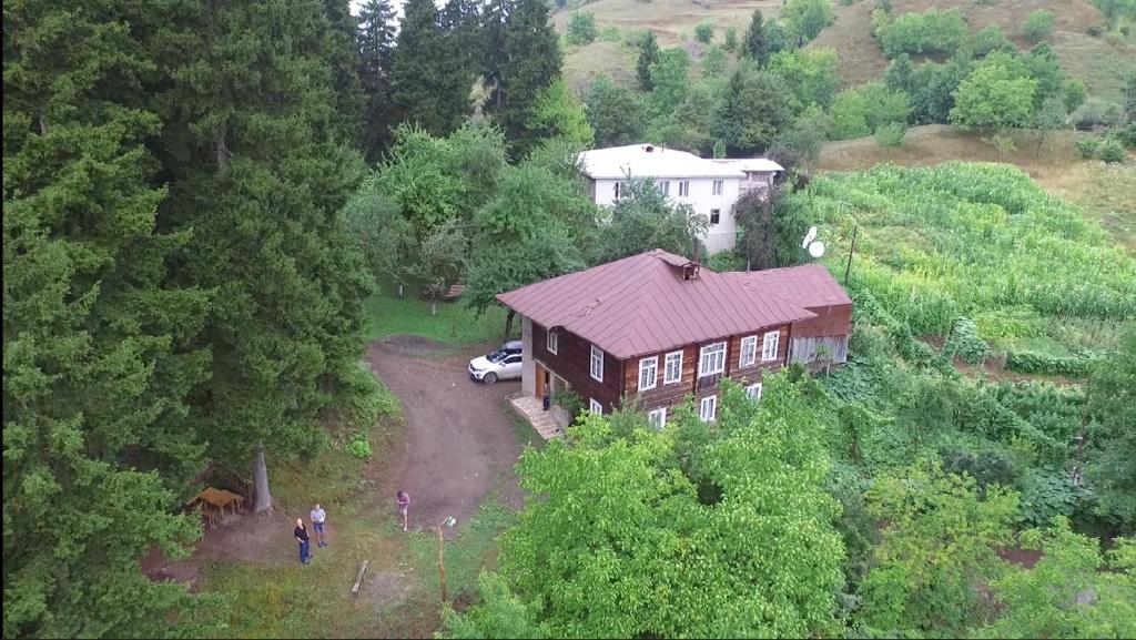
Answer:
[[[418,336],[392,335],[368,347],[371,371],[402,400],[406,443],[384,469],[384,491],[394,505],[399,489],[410,493],[410,526],[431,527],[446,516],[465,520],[486,493],[521,506],[513,475],[520,444],[504,398],[519,381],[474,382],[469,359],[485,347],[438,355]]]

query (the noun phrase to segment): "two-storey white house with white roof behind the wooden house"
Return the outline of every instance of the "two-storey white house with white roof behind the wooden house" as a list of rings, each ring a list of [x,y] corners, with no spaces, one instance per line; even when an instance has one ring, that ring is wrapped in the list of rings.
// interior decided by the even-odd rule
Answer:
[[[710,219],[702,241],[711,253],[734,248],[734,202],[751,189],[768,189],[784,171],[765,158],[709,160],[654,144],[592,149],[579,155],[579,163],[596,205],[615,202],[628,176],[654,180],[665,196]]]

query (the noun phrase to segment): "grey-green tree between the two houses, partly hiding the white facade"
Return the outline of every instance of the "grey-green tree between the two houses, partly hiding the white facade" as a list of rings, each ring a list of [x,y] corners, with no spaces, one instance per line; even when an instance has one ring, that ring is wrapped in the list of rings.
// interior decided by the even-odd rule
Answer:
[[[692,256],[710,221],[690,205],[667,200],[653,181],[627,178],[610,210],[593,263],[608,263],[651,249]]]

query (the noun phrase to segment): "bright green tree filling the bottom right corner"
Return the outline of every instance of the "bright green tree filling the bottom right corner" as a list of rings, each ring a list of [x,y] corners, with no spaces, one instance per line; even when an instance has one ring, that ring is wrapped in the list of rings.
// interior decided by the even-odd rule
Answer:
[[[1119,539],[1111,562],[1100,542],[1058,516],[1047,530],[1021,533],[1042,552],[1033,568],[1012,568],[991,587],[1003,610],[979,638],[1130,638],[1136,634],[1136,547]]]

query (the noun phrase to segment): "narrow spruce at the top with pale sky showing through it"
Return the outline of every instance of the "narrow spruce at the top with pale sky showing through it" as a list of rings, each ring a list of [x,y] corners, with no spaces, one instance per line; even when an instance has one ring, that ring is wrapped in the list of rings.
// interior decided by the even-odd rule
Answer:
[[[391,105],[391,65],[394,56],[396,18],[391,0],[368,0],[359,10],[357,43],[360,80],[366,97],[364,151],[376,163],[391,144],[394,123]]]

